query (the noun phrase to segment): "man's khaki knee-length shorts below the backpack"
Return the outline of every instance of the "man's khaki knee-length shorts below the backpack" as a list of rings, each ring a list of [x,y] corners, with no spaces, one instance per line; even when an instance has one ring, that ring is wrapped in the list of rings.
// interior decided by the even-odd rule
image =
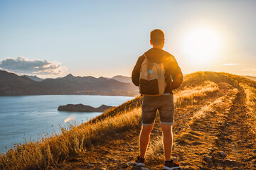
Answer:
[[[162,124],[174,125],[174,95],[143,96],[142,125],[153,125],[159,110]]]

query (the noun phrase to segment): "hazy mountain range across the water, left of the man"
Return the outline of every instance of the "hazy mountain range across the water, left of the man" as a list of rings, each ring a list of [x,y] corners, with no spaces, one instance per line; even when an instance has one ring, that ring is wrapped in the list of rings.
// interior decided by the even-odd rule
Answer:
[[[114,96],[135,96],[137,86],[103,77],[74,77],[68,74],[59,79],[34,81],[0,70],[0,96],[46,94],[93,94]]]

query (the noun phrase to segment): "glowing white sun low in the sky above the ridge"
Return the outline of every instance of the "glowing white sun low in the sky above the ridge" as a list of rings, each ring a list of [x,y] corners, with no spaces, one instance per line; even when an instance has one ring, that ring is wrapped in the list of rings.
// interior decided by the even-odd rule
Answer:
[[[193,28],[181,38],[181,52],[191,64],[210,63],[219,55],[220,39],[218,32],[212,28]]]

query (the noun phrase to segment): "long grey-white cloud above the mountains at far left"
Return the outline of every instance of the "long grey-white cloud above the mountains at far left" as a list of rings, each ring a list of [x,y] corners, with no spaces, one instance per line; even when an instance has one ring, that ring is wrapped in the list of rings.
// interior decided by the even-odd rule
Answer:
[[[58,75],[66,70],[60,62],[47,60],[29,60],[26,57],[6,58],[0,61],[1,69],[19,74],[53,74]]]

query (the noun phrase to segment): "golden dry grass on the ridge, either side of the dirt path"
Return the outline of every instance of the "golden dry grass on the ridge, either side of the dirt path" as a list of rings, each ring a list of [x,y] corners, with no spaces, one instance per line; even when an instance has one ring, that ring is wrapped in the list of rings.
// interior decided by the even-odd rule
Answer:
[[[184,77],[181,88],[174,91],[176,108],[198,103],[203,98],[218,98],[220,94],[218,86],[223,82],[245,91],[248,106],[251,108],[250,117],[256,121],[256,82],[233,74],[215,72],[188,74]],[[68,157],[86,153],[88,147],[111,139],[112,134],[139,129],[141,106],[142,97],[139,96],[121,106],[111,108],[87,123],[71,126],[70,130],[62,128],[60,135],[55,134],[51,137],[42,137],[40,141],[16,145],[6,154],[0,155],[0,169],[48,169]],[[198,113],[198,116],[203,116],[200,114]],[[256,123],[251,123],[256,130]],[[153,151],[152,155],[154,156]]]

